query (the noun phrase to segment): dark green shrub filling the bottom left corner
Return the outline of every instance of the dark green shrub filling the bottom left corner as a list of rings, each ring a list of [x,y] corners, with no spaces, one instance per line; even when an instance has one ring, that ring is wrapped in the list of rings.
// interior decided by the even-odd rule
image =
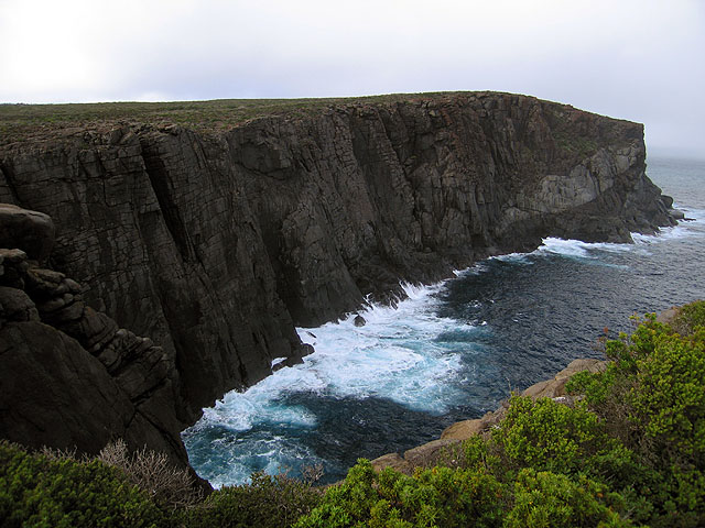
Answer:
[[[165,514],[102,462],[30,454],[0,441],[0,526],[161,527]]]

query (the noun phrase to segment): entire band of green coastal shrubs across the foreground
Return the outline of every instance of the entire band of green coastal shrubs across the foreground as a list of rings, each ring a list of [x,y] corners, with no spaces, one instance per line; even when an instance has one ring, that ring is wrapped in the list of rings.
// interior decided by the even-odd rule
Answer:
[[[144,484],[120,449],[122,471],[2,443],[0,526],[705,526],[705,301],[669,324],[647,316],[605,351],[607,370],[573,376],[567,403],[513,396],[445,464],[405,475],[361,459],[325,493],[256,474],[178,504],[161,487],[182,480]]]

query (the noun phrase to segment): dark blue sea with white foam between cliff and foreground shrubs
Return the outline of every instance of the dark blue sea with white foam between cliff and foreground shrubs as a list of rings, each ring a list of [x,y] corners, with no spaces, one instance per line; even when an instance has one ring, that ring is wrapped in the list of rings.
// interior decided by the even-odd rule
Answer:
[[[357,458],[437,438],[510,389],[553,376],[629,316],[705,298],[705,162],[650,160],[648,174],[695,221],[634,244],[549,239],[530,254],[489,258],[458,277],[408,288],[398,309],[301,330],[316,348],[246,393],[230,393],[183,437],[214,485],[252,471],[323,463],[341,479]]]

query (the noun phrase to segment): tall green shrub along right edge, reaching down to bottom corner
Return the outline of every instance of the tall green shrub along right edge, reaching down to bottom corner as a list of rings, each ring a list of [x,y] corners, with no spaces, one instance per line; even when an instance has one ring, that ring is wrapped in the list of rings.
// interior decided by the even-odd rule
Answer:
[[[566,385],[623,444],[586,470],[619,483],[632,518],[649,526],[705,525],[704,319],[703,301],[668,324],[647,315],[631,336],[607,342],[615,361],[604,373]]]

